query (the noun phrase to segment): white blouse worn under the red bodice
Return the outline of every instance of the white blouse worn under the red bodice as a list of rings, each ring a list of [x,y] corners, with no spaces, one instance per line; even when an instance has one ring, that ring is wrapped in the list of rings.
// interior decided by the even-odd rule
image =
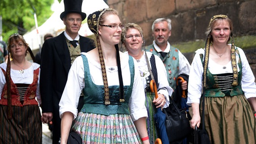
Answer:
[[[7,63],[1,63],[0,67],[3,68],[6,72]],[[36,70],[38,67],[40,67],[37,63],[32,63],[32,65],[23,71],[23,73],[20,73],[18,70],[11,69],[11,79],[14,82],[14,84],[22,83],[22,84],[32,84],[33,82],[33,75],[34,70]],[[39,75],[38,75],[38,81],[37,81],[37,91],[36,91],[36,98],[39,104],[41,104],[41,94],[40,94],[40,86],[39,86],[39,80],[40,80],[40,69],[39,69]],[[5,86],[5,75],[2,70],[0,70],[0,95],[2,94],[2,91]],[[1,97],[0,97],[1,99]]]

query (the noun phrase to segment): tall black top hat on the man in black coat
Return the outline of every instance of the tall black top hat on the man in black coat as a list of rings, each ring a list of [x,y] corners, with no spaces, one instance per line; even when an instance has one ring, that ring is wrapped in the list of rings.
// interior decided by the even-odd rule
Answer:
[[[82,12],[82,0],[64,0],[64,12],[60,14],[62,20],[69,13],[81,14],[82,20],[86,18],[86,14]]]

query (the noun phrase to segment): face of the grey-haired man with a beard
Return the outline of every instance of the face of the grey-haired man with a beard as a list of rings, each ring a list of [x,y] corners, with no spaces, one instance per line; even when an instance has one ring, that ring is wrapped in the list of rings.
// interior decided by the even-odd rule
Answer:
[[[171,31],[168,28],[168,23],[166,21],[155,23],[153,34],[155,43],[159,46],[166,46],[169,36],[171,36]]]

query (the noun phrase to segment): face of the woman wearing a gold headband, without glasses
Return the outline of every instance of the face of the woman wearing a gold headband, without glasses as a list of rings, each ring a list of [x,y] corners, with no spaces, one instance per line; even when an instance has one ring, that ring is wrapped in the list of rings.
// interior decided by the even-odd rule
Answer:
[[[230,25],[227,20],[219,19],[210,32],[213,43],[227,43],[230,37]]]

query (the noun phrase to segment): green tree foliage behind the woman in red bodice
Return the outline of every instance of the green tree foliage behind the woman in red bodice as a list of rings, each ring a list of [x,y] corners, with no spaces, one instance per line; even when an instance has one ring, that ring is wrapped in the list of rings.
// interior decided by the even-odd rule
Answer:
[[[3,40],[7,42],[11,34],[24,34],[35,28],[34,13],[38,27],[41,26],[53,13],[50,9],[53,3],[54,0],[0,0]]]

